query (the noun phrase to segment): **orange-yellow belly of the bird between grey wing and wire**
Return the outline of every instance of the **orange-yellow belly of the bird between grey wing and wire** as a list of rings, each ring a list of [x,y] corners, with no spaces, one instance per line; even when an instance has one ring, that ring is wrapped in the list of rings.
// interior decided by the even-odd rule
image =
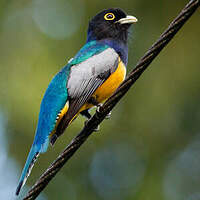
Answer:
[[[115,70],[115,72],[113,72],[110,75],[110,77],[95,91],[92,97],[94,97],[98,103],[102,103],[115,92],[115,90],[119,87],[119,85],[125,79],[125,76],[126,76],[126,67],[120,59],[119,65],[117,69]],[[86,103],[81,107],[79,113],[93,106],[94,105],[92,104]]]

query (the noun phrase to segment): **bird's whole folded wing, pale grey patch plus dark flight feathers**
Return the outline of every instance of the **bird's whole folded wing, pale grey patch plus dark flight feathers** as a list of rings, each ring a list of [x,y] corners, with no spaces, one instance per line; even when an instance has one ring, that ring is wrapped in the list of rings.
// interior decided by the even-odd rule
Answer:
[[[116,70],[118,64],[119,55],[114,49],[107,48],[101,53],[71,67],[67,82],[69,109],[56,130],[56,136],[62,134],[80,108]],[[55,140],[56,137],[51,138],[51,143],[53,144]]]

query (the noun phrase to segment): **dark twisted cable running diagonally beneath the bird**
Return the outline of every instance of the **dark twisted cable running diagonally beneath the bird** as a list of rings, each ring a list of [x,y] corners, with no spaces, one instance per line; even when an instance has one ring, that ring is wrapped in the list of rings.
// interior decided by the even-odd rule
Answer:
[[[191,0],[181,13],[172,21],[167,30],[152,45],[147,53],[139,60],[136,67],[132,70],[126,80],[120,85],[117,91],[100,107],[99,112],[88,121],[82,131],[76,136],[59,157],[50,165],[50,167],[42,174],[35,185],[30,189],[24,200],[35,199],[40,192],[48,185],[56,173],[63,165],[73,156],[79,147],[92,134],[93,130],[99,125],[106,115],[114,108],[120,99],[126,94],[130,87],[156,58],[160,51],[170,42],[174,35],[181,29],[185,22],[200,6],[199,0]]]

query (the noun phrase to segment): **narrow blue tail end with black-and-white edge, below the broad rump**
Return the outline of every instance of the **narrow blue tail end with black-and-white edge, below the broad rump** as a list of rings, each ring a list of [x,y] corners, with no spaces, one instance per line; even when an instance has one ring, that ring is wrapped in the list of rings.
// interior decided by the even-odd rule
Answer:
[[[28,154],[28,158],[26,160],[26,164],[24,166],[24,169],[22,171],[20,180],[19,180],[19,184],[17,186],[17,190],[16,190],[16,195],[19,194],[21,188],[23,187],[23,185],[26,183],[26,180],[29,176],[29,174],[31,173],[31,170],[33,168],[33,165],[37,159],[37,157],[39,156],[39,151],[36,145],[32,145],[31,150]]]

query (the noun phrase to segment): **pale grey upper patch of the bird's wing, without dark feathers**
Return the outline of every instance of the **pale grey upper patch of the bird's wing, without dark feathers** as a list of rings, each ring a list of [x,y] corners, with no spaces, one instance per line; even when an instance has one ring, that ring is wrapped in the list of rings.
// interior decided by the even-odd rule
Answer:
[[[108,48],[100,54],[72,66],[67,83],[70,98],[79,98],[90,93],[96,84],[99,85],[97,82],[104,79],[101,75],[115,71],[118,59],[119,56],[115,50]]]

